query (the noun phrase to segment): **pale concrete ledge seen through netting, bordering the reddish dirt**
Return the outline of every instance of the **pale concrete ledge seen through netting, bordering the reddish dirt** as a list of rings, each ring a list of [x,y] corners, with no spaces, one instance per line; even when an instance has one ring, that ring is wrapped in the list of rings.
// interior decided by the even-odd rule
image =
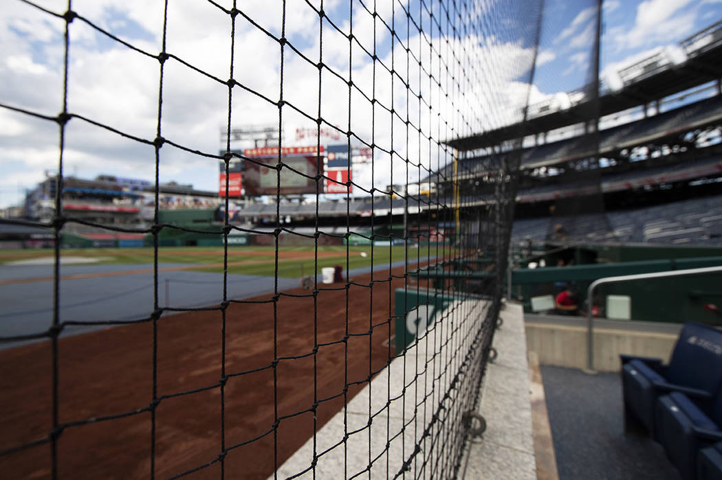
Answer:
[[[461,417],[466,402],[443,396],[451,390],[452,397],[466,399],[472,383],[462,378],[451,389],[451,379],[484,328],[488,306],[483,300],[451,303],[448,311],[453,313],[436,321],[424,337],[376,375],[278,468],[278,478],[344,479],[361,474],[388,479],[401,473],[431,480],[450,475],[456,452],[440,454],[448,452],[447,443],[451,448],[461,446],[458,439],[464,435]],[[516,327],[520,328],[523,335],[523,326]],[[458,329],[451,338],[450,329]],[[432,422],[435,415],[438,418]],[[409,465],[404,471],[405,461]]]

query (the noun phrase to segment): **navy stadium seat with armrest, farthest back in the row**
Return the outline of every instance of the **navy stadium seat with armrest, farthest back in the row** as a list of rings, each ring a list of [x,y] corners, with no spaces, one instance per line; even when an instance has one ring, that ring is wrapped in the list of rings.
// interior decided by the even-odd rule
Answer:
[[[722,381],[722,332],[688,323],[679,332],[669,365],[658,358],[620,355],[627,430],[639,422],[656,438],[654,409],[659,396],[680,391],[709,401]]]

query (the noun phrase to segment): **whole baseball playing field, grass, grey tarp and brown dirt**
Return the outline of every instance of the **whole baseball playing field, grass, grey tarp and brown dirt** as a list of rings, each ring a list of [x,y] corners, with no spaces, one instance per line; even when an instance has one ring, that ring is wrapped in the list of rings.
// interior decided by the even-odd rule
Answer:
[[[218,478],[221,469],[226,478],[267,478],[388,364],[393,290],[407,285],[404,271],[416,267],[419,255],[425,265],[443,253],[409,249],[409,265],[403,265],[404,247],[375,246],[372,265],[370,246],[348,252],[347,261],[346,247],[282,248],[278,254],[273,247],[229,249],[228,284],[247,280],[240,293],[228,295],[237,300],[224,314],[218,307],[222,249],[165,247],[159,275],[202,277],[188,280],[185,294],[173,294],[169,307],[183,310],[193,294],[202,303],[199,285],[212,285],[216,296],[204,303],[209,308],[164,312],[154,320],[153,288],[140,285],[116,303],[68,307],[90,319],[123,308],[144,315],[123,326],[61,336],[55,362],[47,340],[20,347],[4,342],[0,471],[7,478],[50,476],[55,439],[59,478],[148,477],[151,469],[157,478]],[[0,292],[6,292],[0,321],[19,321],[22,329],[31,315],[13,306],[28,298],[48,301],[49,253],[0,252]],[[111,280],[136,286],[139,278],[152,280],[152,249],[73,249],[61,257],[77,263],[61,265],[61,310],[63,295],[118,288]],[[319,283],[315,294],[298,287],[298,277],[312,275],[314,264],[318,272],[348,265],[350,281]],[[261,280],[264,286],[253,290]],[[33,329],[43,331],[52,308],[34,315],[43,322]],[[60,316],[61,322],[72,318]],[[71,329],[65,326],[64,333]]]

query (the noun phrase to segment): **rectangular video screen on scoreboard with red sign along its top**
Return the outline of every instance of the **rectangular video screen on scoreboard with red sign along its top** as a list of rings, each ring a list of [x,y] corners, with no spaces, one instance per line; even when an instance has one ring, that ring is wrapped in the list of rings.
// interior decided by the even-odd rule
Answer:
[[[321,151],[323,151],[323,147],[321,147]],[[316,193],[316,181],[313,179],[318,172],[319,158],[316,154],[316,147],[282,148],[281,161],[293,170],[282,168],[280,182],[278,170],[274,168],[278,162],[278,154],[277,147],[248,148],[243,151],[243,156],[257,159],[258,162],[268,165],[259,165],[253,161],[244,162],[243,187],[245,194],[274,195],[279,191],[279,185],[281,195]],[[301,172],[301,174],[297,172]],[[321,189],[323,191],[323,186]]]

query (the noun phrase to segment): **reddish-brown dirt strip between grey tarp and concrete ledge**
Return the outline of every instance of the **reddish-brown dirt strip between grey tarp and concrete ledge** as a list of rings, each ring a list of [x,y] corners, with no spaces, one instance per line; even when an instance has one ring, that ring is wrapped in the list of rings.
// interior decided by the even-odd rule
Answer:
[[[388,272],[374,274],[381,279]],[[368,285],[370,275],[353,280]],[[345,396],[351,399],[371,371],[388,363],[394,353],[393,342],[386,342],[394,329],[393,290],[403,288],[404,280],[350,285],[348,294],[343,283],[327,286],[339,290],[321,290],[316,305],[313,297],[282,295],[274,307],[271,295],[264,295],[249,299],[264,303],[227,308],[223,392],[221,312],[157,321],[157,478],[217,460],[223,427],[225,447],[237,445],[225,456],[226,478],[265,479],[274,463],[280,466],[313,435],[315,399],[319,429],[342,409],[345,386],[350,384]],[[275,369],[274,332],[280,358]],[[314,355],[313,346],[321,344]],[[153,346],[150,322],[58,342],[58,422],[82,422],[58,432],[58,478],[150,476]],[[52,368],[50,342],[0,351],[0,451],[51,433]],[[194,393],[177,395],[187,391]],[[129,415],[84,423],[121,414]],[[274,431],[275,418],[280,420]],[[216,461],[186,478],[217,479],[221,468]],[[0,456],[0,471],[6,478],[48,477],[51,443]]]

